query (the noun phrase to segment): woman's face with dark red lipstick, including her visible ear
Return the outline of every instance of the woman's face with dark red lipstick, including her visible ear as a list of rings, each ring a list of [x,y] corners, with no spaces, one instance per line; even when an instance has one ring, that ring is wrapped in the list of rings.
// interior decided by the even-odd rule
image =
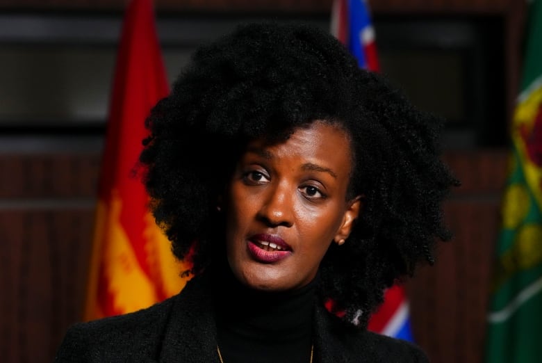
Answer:
[[[227,257],[240,282],[280,291],[313,280],[358,216],[360,198],[346,200],[351,168],[350,139],[325,122],[277,145],[249,143],[224,198]]]

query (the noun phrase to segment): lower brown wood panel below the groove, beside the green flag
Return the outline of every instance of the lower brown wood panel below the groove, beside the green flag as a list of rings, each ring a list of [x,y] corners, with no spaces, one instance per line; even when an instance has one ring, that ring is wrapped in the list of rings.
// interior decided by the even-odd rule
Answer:
[[[454,239],[409,284],[416,342],[431,362],[482,362],[499,204],[449,202]]]

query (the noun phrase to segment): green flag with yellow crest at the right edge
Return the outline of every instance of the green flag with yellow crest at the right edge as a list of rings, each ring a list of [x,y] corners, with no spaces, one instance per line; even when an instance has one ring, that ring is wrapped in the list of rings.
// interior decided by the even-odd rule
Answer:
[[[542,0],[529,1],[486,334],[487,363],[542,362]]]

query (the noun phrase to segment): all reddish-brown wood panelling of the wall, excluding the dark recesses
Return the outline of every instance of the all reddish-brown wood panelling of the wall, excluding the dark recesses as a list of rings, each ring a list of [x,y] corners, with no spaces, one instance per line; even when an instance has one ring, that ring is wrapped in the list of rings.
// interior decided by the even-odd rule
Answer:
[[[0,0],[0,12],[122,10],[124,0]],[[375,0],[375,15],[491,13],[504,35],[507,119],[520,72],[523,1]],[[326,12],[330,0],[161,0],[159,12]],[[480,363],[493,245],[507,149],[446,152],[463,186],[445,205],[454,239],[437,263],[407,284],[416,341],[432,362]],[[66,328],[81,318],[90,254],[99,152],[0,154],[0,360],[51,362]]]

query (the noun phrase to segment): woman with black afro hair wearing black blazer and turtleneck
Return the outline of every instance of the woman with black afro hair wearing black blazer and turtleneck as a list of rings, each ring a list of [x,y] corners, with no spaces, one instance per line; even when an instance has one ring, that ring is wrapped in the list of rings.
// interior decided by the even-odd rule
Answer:
[[[74,325],[58,362],[427,362],[366,328],[450,238],[441,120],[324,31],[249,24],[195,53],[147,127],[143,182],[192,278]]]

